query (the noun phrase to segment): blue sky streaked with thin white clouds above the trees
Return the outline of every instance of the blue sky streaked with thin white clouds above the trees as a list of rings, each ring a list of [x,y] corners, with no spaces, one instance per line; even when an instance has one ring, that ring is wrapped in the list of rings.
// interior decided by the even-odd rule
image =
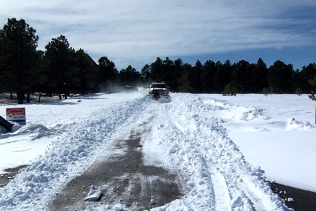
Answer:
[[[60,34],[96,62],[137,70],[157,57],[316,63],[315,0],[1,0],[0,27],[25,19],[44,50]]]

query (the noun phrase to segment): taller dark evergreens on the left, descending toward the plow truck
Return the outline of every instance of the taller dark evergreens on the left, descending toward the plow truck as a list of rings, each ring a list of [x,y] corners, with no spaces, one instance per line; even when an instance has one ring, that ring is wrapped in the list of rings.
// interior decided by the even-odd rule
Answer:
[[[70,93],[107,91],[110,84],[136,81],[140,75],[131,65],[118,72],[106,56],[95,63],[83,49],[73,49],[64,35],[51,39],[45,51],[37,50],[38,40],[23,19],[9,18],[0,30],[0,92],[16,93],[18,103],[25,95],[29,103],[34,92],[61,99]]]

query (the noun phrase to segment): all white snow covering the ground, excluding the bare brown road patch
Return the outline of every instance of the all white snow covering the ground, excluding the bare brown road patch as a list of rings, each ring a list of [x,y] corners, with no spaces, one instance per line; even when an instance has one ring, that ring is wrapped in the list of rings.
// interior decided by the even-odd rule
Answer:
[[[287,210],[263,178],[316,191],[315,106],[307,96],[254,94],[171,94],[171,103],[159,103],[145,91],[25,105],[27,125],[0,134],[0,171],[29,166],[0,189],[0,210],[45,209],[115,139],[148,120],[145,162],[178,172],[183,188],[182,198],[155,210]],[[8,107],[20,106],[0,106],[1,116]],[[118,209],[87,210],[111,207]]]

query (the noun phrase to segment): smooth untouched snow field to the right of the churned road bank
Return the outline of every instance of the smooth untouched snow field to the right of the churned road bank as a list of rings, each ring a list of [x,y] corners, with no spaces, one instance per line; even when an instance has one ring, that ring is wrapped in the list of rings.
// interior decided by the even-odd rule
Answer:
[[[204,96],[230,106],[211,113],[225,119],[228,136],[270,181],[316,192],[316,102],[307,95]]]

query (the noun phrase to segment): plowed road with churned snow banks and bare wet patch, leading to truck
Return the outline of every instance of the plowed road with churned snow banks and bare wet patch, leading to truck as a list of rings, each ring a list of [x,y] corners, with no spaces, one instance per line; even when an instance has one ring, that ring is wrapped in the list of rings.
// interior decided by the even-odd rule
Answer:
[[[171,103],[103,98],[73,105],[91,112],[67,122],[45,155],[1,188],[1,210],[287,210],[224,120],[208,115],[228,103],[192,94],[172,94]],[[91,185],[99,202],[84,201]]]

